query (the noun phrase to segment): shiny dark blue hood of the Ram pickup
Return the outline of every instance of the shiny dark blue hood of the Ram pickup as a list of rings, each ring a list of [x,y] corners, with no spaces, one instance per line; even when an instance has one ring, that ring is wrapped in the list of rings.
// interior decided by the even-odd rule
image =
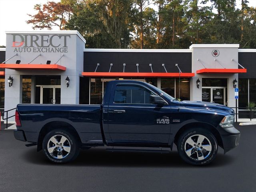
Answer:
[[[216,103],[210,103],[210,102],[202,102],[202,101],[182,101],[180,102],[181,106],[184,106],[186,108],[202,108],[206,110],[220,110],[224,112],[228,112],[230,115],[234,115],[234,110]]]

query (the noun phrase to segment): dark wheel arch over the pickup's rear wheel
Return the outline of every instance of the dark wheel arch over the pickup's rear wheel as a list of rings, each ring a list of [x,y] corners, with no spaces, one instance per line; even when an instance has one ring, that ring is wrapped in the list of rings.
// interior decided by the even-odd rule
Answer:
[[[46,123],[40,130],[38,141],[37,141],[37,151],[42,150],[42,142],[46,134],[55,129],[63,129],[70,132],[77,138],[79,145],[81,145],[82,143],[81,138],[78,135],[78,132],[76,131],[76,129],[71,124],[63,121],[52,121],[52,122]]]

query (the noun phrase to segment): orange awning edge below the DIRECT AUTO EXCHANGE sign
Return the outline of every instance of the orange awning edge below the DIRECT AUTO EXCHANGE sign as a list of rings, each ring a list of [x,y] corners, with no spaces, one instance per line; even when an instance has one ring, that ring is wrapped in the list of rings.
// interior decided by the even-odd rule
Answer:
[[[0,64],[0,68],[15,69],[15,70],[63,70],[66,71],[66,67],[57,64]]]

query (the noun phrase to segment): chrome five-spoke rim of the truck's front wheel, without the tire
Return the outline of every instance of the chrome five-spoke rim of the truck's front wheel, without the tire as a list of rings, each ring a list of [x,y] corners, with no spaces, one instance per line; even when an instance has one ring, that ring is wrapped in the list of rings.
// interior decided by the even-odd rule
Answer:
[[[192,160],[200,161],[206,159],[212,152],[210,140],[200,134],[190,136],[184,145],[186,155]]]

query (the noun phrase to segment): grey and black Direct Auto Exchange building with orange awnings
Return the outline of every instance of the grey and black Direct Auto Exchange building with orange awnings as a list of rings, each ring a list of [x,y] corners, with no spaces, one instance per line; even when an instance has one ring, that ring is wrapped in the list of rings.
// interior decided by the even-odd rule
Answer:
[[[111,80],[148,82],[181,100],[229,107],[236,106],[236,87],[239,111],[256,102],[254,49],[239,44],[86,49],[85,44],[77,31],[6,32],[6,48],[0,48],[2,111],[20,103],[101,104]]]

